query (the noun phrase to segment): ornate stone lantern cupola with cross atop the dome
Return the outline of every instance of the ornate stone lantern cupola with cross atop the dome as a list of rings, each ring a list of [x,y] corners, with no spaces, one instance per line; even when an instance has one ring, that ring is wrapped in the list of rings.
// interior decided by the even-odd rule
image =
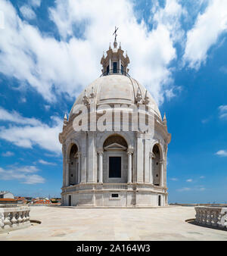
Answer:
[[[102,75],[107,76],[111,74],[117,74],[126,76],[129,73],[129,57],[126,53],[126,56],[123,55],[124,51],[121,49],[121,45],[117,48],[117,30],[115,30],[115,39],[113,42],[113,48],[109,46],[109,50],[106,52],[106,55],[103,54],[101,58],[102,65]],[[113,33],[113,34],[114,34]]]

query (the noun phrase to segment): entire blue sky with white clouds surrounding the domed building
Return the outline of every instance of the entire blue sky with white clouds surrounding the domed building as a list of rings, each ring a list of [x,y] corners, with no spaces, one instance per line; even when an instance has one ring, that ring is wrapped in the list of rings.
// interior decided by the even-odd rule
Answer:
[[[0,189],[60,196],[61,131],[113,29],[166,112],[169,202],[227,202],[227,3],[0,2]]]

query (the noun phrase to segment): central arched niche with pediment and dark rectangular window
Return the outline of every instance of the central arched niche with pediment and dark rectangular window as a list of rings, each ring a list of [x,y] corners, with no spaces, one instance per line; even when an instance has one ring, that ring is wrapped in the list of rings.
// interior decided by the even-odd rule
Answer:
[[[128,144],[118,135],[109,136],[103,145],[104,149],[104,183],[126,183],[128,172]]]

